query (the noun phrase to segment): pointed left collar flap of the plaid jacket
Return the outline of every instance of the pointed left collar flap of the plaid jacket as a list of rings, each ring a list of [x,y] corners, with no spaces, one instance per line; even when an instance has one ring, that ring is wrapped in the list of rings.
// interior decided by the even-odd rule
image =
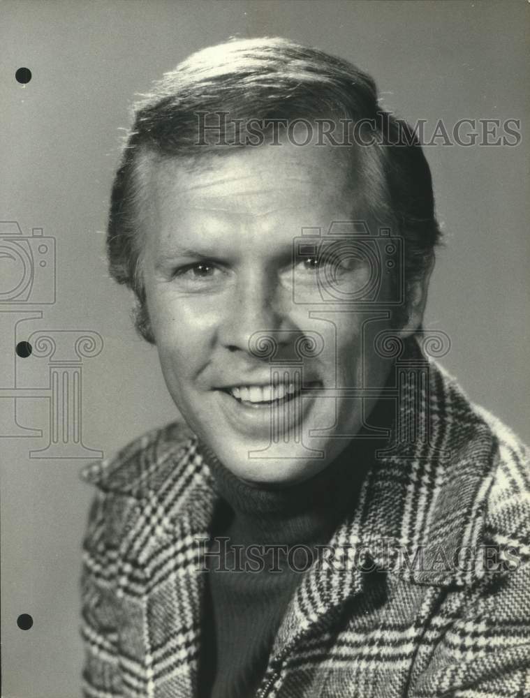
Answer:
[[[134,439],[115,456],[89,463],[80,477],[102,491],[140,499],[159,488],[168,470],[178,468],[195,440],[186,424],[171,422]]]

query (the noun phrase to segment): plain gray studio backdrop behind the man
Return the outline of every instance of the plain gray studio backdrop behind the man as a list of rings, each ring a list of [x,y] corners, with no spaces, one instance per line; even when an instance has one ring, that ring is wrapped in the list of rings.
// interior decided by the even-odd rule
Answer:
[[[176,415],[156,350],[135,336],[128,296],[103,262],[119,127],[135,92],[205,45],[283,35],[368,70],[385,105],[411,121],[518,118],[524,126],[529,10],[523,0],[1,2],[0,220],[57,239],[57,302],[42,306],[43,320],[27,322],[28,332],[93,329],[103,337],[101,355],[83,364],[84,443],[112,454]],[[20,66],[33,71],[26,87],[15,82]],[[444,364],[471,398],[530,441],[527,144],[437,146],[427,157],[447,243],[427,327],[449,334]],[[16,361],[24,385],[45,385],[45,359]],[[46,437],[47,401],[20,403],[22,424]],[[72,698],[91,497],[78,480],[84,461],[30,459],[45,438],[0,443],[3,695]],[[27,632],[16,625],[22,612],[34,617]]]

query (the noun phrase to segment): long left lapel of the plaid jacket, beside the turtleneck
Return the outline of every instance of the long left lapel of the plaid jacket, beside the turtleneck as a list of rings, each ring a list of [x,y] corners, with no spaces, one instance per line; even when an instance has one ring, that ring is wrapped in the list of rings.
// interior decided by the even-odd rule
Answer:
[[[197,691],[205,591],[200,542],[214,494],[195,438],[170,466],[142,501],[119,554],[122,672],[127,695],[139,698],[189,698]]]

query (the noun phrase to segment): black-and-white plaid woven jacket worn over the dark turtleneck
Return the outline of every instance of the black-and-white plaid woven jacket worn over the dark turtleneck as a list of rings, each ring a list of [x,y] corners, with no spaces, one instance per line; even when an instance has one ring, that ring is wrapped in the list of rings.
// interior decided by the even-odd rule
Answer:
[[[423,415],[427,443],[369,470],[333,558],[290,600],[259,698],[530,696],[527,450],[434,363],[399,410]],[[171,424],[84,471],[87,698],[196,696],[216,498],[197,446]]]

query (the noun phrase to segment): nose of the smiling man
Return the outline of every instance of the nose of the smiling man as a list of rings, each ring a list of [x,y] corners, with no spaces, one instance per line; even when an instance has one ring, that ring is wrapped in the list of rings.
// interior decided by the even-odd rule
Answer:
[[[286,299],[279,284],[266,273],[240,279],[227,300],[219,336],[226,348],[253,355],[256,333],[274,337],[279,346],[286,342],[282,331],[292,329],[287,316]]]

